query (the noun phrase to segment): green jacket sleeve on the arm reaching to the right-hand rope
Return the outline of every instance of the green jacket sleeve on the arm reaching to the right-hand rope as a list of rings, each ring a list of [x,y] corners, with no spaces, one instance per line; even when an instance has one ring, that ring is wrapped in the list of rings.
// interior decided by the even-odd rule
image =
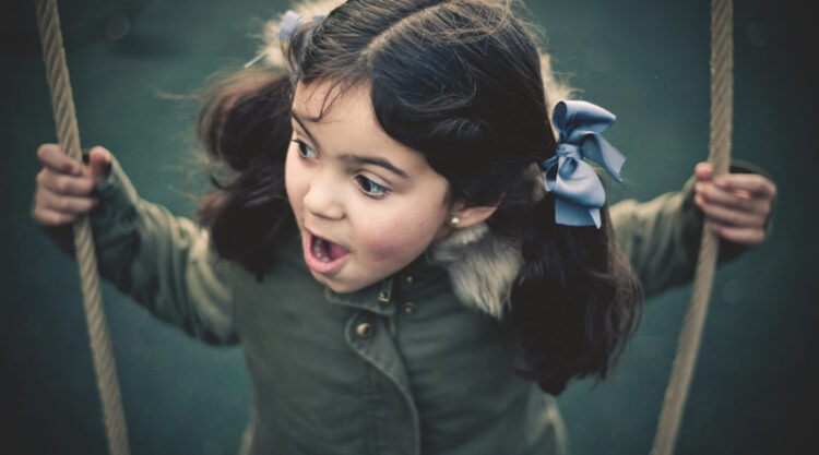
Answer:
[[[771,176],[749,163],[733,160],[732,173]],[[609,207],[615,238],[640,277],[645,296],[661,292],[693,278],[704,214],[693,202],[697,178],[682,191],[668,192],[644,203],[625,200]],[[775,202],[775,201],[774,201]],[[765,231],[772,232],[773,208]],[[720,238],[717,264],[733,261],[751,247]]]

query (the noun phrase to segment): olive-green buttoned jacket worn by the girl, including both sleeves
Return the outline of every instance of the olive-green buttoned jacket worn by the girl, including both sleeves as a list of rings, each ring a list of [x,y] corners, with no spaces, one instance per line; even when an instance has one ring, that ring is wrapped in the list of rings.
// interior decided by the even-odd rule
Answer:
[[[610,207],[648,296],[693,274],[695,182]],[[140,199],[116,159],[98,197],[102,276],[194,337],[241,343],[254,386],[244,454],[566,452],[554,398],[513,373],[498,320],[464,304],[427,255],[337,295],[312,279],[294,237],[258,282],[207,230]],[[70,226],[43,229],[73,253]],[[720,261],[743,250],[723,242]]]

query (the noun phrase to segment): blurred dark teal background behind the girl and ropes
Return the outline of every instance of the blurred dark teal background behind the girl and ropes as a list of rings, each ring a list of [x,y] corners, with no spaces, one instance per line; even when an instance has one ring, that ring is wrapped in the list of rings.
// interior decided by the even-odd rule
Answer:
[[[733,154],[773,176],[779,201],[768,241],[717,272],[677,453],[812,452],[817,40],[808,7],[736,3]],[[709,2],[529,4],[555,69],[618,116],[606,136],[628,157],[629,188],[610,201],[680,189],[708,156]],[[263,21],[286,7],[60,2],[83,146],[105,145],[143,197],[189,216],[186,192],[205,180],[191,165],[197,104],[178,95],[250,60]],[[0,453],[103,454],[76,266],[31,218],[36,148],[56,141],[33,4],[5,2],[1,17]],[[236,453],[251,399],[240,350],[197,343],[103,291],[132,453]],[[610,378],[559,397],[575,455],[649,452],[689,291],[651,299]]]

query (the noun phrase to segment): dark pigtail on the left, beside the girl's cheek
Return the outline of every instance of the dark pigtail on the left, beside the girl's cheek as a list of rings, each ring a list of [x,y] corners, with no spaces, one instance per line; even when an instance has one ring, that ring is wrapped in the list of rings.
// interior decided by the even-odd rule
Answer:
[[[216,251],[259,280],[295,226],[284,184],[290,93],[286,72],[240,71],[205,93],[197,125],[213,188],[194,216]]]

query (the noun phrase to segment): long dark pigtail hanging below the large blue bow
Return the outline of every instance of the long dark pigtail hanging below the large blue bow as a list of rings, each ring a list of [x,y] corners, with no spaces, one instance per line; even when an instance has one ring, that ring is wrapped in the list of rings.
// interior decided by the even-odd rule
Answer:
[[[518,219],[524,264],[505,319],[519,373],[557,395],[572,378],[606,376],[637,325],[643,290],[608,206],[600,229],[557,225],[550,193],[527,213]]]

